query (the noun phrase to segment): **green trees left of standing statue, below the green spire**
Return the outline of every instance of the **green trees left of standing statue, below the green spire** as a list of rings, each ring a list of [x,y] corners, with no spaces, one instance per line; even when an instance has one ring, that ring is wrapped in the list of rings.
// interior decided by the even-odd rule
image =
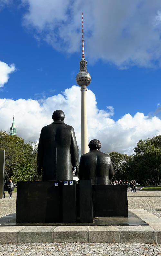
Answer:
[[[5,179],[39,180],[37,174],[37,144],[24,143],[18,136],[0,131],[0,150],[5,150]]]

